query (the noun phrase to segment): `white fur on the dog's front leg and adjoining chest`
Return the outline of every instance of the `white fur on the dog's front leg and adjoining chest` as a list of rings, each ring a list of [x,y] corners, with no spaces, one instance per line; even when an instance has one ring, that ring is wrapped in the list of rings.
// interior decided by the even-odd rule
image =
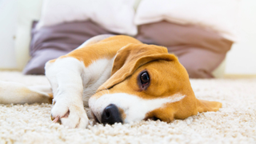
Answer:
[[[99,59],[85,67],[76,58],[59,58],[47,62],[46,77],[54,93],[53,117],[60,117],[65,126],[86,127],[88,118],[83,108],[88,99],[110,77],[113,59]],[[83,102],[84,101],[84,102]],[[62,118],[70,110],[68,118]]]

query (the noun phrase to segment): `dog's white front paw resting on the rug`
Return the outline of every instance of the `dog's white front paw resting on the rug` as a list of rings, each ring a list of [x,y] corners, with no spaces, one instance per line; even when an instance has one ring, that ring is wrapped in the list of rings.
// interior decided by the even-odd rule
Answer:
[[[54,102],[51,119],[69,128],[86,128],[89,122],[86,110],[76,102]]]

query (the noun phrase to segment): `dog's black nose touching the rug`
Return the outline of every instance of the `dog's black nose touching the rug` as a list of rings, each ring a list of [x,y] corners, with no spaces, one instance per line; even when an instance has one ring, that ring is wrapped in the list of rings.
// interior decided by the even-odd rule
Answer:
[[[110,104],[106,106],[102,113],[102,123],[103,124],[114,124],[115,122],[122,122],[121,115],[118,111],[118,107]]]

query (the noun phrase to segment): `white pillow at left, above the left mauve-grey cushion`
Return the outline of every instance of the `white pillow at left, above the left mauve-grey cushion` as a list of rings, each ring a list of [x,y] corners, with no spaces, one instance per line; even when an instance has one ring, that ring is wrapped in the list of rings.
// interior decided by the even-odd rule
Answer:
[[[137,34],[135,0],[44,0],[37,29],[63,22],[92,20],[118,34]]]

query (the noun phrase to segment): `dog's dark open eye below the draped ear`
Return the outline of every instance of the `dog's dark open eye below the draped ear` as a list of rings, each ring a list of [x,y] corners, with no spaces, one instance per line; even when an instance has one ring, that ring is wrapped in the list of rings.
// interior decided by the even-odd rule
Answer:
[[[150,86],[150,74],[147,70],[143,70],[138,74],[138,86],[141,90],[146,90]]]

